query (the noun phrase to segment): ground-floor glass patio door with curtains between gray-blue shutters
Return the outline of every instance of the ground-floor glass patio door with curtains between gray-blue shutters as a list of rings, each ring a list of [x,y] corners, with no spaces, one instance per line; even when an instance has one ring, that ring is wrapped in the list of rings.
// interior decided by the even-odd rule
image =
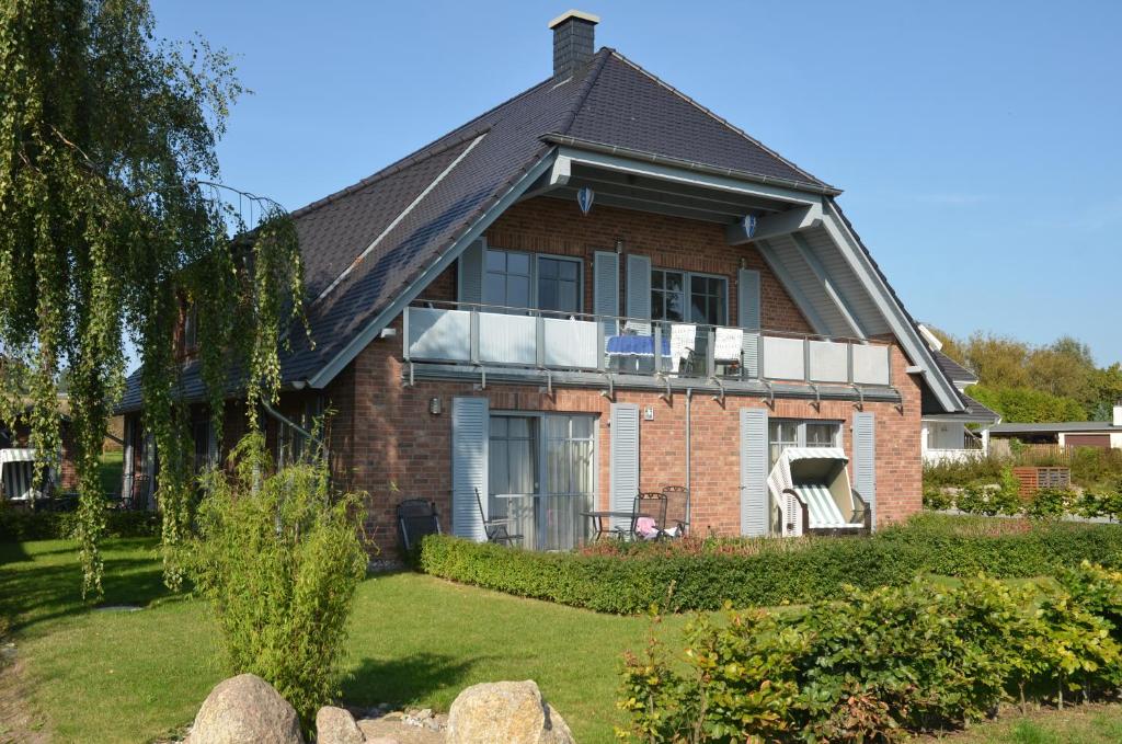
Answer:
[[[490,516],[533,550],[570,550],[586,538],[580,515],[596,490],[596,420],[588,415],[496,413],[490,417]]]

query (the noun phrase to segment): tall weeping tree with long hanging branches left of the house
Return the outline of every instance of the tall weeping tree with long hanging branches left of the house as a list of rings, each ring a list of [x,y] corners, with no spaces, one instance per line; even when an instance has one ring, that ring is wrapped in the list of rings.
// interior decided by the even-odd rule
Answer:
[[[232,392],[250,415],[276,396],[280,342],[302,318],[292,221],[219,178],[215,144],[242,92],[224,52],[157,39],[145,0],[0,4],[0,421],[30,426],[40,476],[57,467],[65,380],[83,596],[102,594],[98,456],[126,341],[160,457],[165,581],[177,589],[194,484],[176,328],[193,309],[221,431]]]

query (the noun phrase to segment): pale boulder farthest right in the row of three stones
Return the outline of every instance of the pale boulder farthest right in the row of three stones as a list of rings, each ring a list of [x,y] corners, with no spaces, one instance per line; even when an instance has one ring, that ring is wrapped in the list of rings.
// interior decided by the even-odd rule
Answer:
[[[573,744],[564,719],[533,680],[487,682],[460,692],[445,744]]]

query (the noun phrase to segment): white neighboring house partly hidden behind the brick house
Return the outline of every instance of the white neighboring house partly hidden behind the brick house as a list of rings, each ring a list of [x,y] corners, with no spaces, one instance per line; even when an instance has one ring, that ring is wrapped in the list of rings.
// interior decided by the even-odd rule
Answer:
[[[947,413],[937,402],[925,397],[920,434],[923,462],[963,462],[988,456],[990,434],[1001,416],[966,395],[967,387],[977,385],[977,375],[945,355],[942,342],[927,327],[920,324],[919,331],[931,349],[935,364],[954,384],[963,403],[962,411]]]

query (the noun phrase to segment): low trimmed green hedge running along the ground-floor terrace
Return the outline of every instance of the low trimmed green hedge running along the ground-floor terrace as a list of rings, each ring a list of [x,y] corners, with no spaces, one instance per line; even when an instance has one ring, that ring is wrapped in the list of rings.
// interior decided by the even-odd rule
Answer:
[[[1122,566],[1122,525],[921,515],[872,538],[631,543],[586,553],[512,550],[433,535],[421,570],[523,597],[640,614],[831,599],[846,585],[902,586],[918,573],[996,578],[1054,573],[1094,560]],[[672,591],[671,591],[672,587]]]

